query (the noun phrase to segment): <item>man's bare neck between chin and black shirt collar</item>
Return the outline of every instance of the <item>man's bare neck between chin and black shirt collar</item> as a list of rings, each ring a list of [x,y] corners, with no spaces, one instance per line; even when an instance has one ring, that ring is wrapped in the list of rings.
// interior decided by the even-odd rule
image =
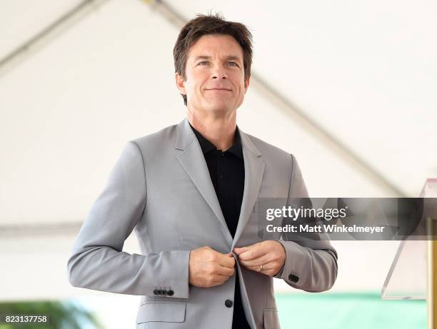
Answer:
[[[232,146],[236,129],[236,111],[226,116],[214,117],[187,108],[187,117],[191,126],[211,141],[218,150],[226,151]]]

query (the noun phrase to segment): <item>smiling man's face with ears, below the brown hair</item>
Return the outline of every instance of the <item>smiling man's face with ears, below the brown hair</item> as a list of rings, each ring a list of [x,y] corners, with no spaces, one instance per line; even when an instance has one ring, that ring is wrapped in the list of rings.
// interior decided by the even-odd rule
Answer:
[[[223,116],[243,103],[249,81],[244,81],[243,49],[232,36],[201,36],[191,46],[185,71],[185,81],[176,74],[176,85],[191,111]]]

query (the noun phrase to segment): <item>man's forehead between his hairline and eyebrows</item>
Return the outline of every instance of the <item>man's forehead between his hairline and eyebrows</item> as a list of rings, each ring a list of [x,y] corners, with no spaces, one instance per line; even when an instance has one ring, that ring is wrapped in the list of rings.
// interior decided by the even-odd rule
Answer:
[[[238,56],[243,61],[243,49],[233,36],[206,34],[191,45],[188,57],[196,56]]]

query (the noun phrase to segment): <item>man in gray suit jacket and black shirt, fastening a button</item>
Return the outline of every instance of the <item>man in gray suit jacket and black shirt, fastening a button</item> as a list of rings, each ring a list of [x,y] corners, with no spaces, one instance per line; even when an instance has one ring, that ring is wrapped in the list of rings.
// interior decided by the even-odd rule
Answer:
[[[137,328],[280,328],[273,277],[311,292],[336,280],[326,238],[259,233],[259,213],[308,193],[293,156],[236,126],[251,56],[243,24],[184,26],[174,61],[187,118],[126,144],[79,232],[71,284],[141,295]],[[142,255],[122,251],[134,228]]]

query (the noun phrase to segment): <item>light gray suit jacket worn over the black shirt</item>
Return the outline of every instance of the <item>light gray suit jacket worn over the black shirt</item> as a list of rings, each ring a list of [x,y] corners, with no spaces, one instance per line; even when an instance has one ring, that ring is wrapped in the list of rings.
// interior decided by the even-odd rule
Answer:
[[[231,237],[211,183],[204,155],[189,121],[126,143],[104,191],[91,207],[68,260],[71,285],[141,295],[136,328],[231,328],[235,275],[252,328],[280,328],[273,279],[236,261],[236,273],[213,288],[189,285],[189,250],[233,247],[262,241],[259,209],[285,206],[308,196],[296,159],[240,130],[245,168],[243,202]],[[284,204],[281,204],[283,202]],[[141,255],[124,251],[135,229]],[[291,287],[320,292],[337,276],[337,254],[329,241],[283,241],[286,263],[276,278]],[[237,260],[237,259],[236,259]]]

